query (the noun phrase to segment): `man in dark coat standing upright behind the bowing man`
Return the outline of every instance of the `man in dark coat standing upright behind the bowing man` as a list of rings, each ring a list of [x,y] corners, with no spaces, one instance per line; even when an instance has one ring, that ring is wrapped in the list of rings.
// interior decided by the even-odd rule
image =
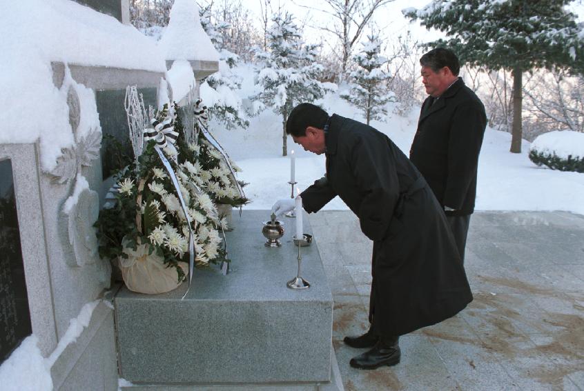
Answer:
[[[487,126],[485,106],[463,79],[451,50],[436,48],[420,58],[429,97],[422,104],[409,159],[444,208],[460,258],[476,198],[478,153]]]

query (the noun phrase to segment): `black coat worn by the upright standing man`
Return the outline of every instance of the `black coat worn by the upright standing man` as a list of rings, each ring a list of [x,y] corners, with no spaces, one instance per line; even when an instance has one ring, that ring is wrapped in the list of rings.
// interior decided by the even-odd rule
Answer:
[[[478,154],[487,126],[485,106],[458,79],[440,99],[428,97],[422,104],[418,130],[409,159],[422,173],[440,205],[474,212]]]

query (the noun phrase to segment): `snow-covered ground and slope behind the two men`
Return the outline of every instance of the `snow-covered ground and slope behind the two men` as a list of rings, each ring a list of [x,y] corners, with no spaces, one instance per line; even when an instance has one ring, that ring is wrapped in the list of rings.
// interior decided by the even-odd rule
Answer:
[[[238,70],[243,76],[241,95],[253,92],[253,72]],[[321,102],[329,114],[337,113],[362,121],[356,108],[329,94]],[[371,125],[396,143],[405,154],[416,132],[418,110],[407,118],[392,114],[386,122]],[[282,119],[265,110],[251,119],[247,130],[224,130],[211,121],[210,129],[222,146],[243,169],[240,179],[249,182],[244,190],[253,201],[248,209],[269,209],[275,200],[290,197],[290,159],[282,157]],[[324,155],[305,152],[288,137],[288,150],[295,150],[296,181],[300,190],[324,174]],[[478,167],[476,210],[567,210],[584,214],[584,174],[538,167],[529,160],[529,142],[523,141],[520,154],[509,152],[511,134],[487,128]],[[584,154],[584,145],[574,146]],[[347,209],[333,199],[325,209]]]

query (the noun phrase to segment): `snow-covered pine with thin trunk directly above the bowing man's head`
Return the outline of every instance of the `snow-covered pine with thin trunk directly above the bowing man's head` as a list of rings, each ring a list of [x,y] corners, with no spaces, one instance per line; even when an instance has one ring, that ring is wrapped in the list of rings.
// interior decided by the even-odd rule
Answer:
[[[324,67],[316,63],[316,45],[302,42],[300,31],[288,12],[275,14],[268,30],[266,66],[257,74],[259,99],[265,106],[282,115],[282,156],[286,156],[286,121],[294,106],[324,97],[330,87],[318,78]]]

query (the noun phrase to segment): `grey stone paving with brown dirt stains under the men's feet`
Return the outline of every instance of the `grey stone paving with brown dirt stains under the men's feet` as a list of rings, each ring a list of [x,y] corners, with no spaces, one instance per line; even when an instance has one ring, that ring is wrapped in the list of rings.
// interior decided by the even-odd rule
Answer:
[[[477,212],[465,268],[474,301],[456,317],[400,339],[402,362],[354,370],[367,330],[371,248],[349,211],[311,215],[335,301],[333,346],[344,388],[584,391],[584,216]]]

